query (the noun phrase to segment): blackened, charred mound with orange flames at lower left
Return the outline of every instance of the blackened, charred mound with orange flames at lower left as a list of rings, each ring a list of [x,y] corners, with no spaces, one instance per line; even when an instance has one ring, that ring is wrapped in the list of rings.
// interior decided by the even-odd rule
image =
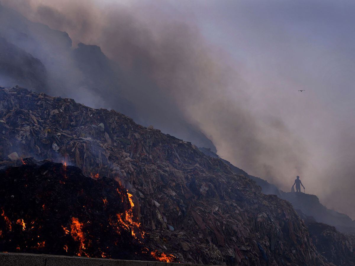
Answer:
[[[125,221],[127,191],[112,179],[27,164],[0,170],[0,194],[1,251],[152,260],[140,228]]]

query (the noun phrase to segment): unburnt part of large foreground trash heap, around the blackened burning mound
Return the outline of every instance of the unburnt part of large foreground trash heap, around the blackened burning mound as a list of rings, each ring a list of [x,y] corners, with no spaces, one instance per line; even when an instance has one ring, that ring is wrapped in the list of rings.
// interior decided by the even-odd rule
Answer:
[[[113,110],[23,88],[0,88],[0,109],[0,167],[33,156],[121,183],[156,254],[196,264],[331,265],[287,201],[262,194],[189,142]],[[92,186],[87,197],[97,193]]]

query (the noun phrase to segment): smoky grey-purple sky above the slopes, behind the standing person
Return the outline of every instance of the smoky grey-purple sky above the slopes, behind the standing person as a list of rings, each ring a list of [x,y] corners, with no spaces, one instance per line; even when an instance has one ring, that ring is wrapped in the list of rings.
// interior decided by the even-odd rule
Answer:
[[[223,159],[284,191],[299,175],[355,218],[354,1],[2,2],[126,68],[141,57],[154,105],[176,109]]]

